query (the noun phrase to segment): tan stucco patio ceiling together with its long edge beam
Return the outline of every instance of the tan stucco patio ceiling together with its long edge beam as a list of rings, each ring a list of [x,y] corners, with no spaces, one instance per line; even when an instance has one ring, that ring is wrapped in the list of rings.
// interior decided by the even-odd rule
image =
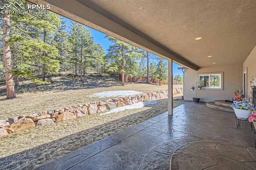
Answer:
[[[242,64],[256,45],[256,0],[28,1],[195,70]]]

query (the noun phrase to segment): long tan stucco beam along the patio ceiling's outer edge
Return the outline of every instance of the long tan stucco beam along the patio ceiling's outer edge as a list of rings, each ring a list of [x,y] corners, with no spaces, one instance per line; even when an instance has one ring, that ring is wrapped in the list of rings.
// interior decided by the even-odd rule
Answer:
[[[150,38],[145,38],[144,35],[135,34],[134,32],[120,26],[116,22],[102,16],[94,10],[80,4],[76,0],[28,0],[34,4],[50,4],[50,10],[57,14],[60,14],[66,18],[84,24],[90,28],[108,34],[114,38],[118,38],[124,42],[130,43],[154,53],[160,57],[166,59],[173,59],[174,61],[185,65],[194,70],[198,70],[198,66],[190,61],[184,59],[184,57],[175,53],[174,51],[164,47],[163,45],[153,43]],[[47,14],[46,14],[47,15]],[[124,21],[125,22],[125,21]],[[143,38],[144,37],[144,38]]]

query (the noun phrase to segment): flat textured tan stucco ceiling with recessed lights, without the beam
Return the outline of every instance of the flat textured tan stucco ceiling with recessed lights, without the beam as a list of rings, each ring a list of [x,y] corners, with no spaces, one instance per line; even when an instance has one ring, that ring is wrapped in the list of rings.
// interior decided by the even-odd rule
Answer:
[[[199,67],[243,63],[256,45],[256,0],[77,1]]]

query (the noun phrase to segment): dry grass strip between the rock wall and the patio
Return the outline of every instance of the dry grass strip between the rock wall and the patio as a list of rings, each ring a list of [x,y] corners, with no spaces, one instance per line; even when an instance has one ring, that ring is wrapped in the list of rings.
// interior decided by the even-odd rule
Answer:
[[[177,98],[180,97],[174,99]],[[174,101],[174,107],[183,103]],[[140,109],[95,114],[9,134],[0,138],[1,168],[33,169],[167,110],[168,100],[159,99],[158,103]]]

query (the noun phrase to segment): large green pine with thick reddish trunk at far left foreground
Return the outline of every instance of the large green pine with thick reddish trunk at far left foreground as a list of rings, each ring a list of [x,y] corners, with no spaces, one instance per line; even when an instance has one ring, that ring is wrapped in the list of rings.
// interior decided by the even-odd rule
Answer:
[[[11,2],[14,0],[1,0],[7,6]],[[27,4],[26,1],[21,2]],[[59,64],[55,60],[58,50],[52,46],[50,35],[58,27],[58,17],[52,12],[49,15],[4,13],[1,22],[6,91],[7,99],[10,99],[16,97],[14,87],[18,82],[17,77],[11,73],[12,69],[19,70],[27,65],[30,71],[42,67],[43,73],[58,72]]]

